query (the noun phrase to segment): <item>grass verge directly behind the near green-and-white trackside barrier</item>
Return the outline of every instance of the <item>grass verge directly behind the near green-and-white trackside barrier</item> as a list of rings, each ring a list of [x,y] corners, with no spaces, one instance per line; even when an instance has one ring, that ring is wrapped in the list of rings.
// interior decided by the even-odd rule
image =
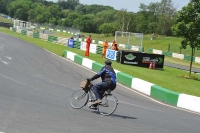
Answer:
[[[59,56],[63,56],[64,50],[69,50],[74,53],[77,53],[81,56],[84,56],[84,51],[71,49],[63,45],[55,45],[54,43],[43,41],[40,39],[30,38],[18,33],[11,32],[9,29],[0,28],[1,32],[10,34],[17,38],[20,38],[26,42],[37,45],[38,47],[47,49]],[[101,58],[101,55],[90,54],[89,59],[94,60],[96,62],[104,64],[105,59]],[[170,60],[170,59],[169,59]],[[180,60],[180,62],[182,62]],[[197,65],[199,66],[199,65]],[[129,65],[122,65],[117,62],[113,62],[113,67],[119,71],[132,75],[134,77],[146,80],[148,82],[154,83],[156,85],[162,86],[169,90],[173,90],[180,93],[185,93],[189,95],[200,96],[200,81],[192,80],[192,79],[184,79],[177,77],[178,75],[188,75],[188,72],[182,71],[175,68],[164,67],[163,71],[161,70],[152,70],[142,67],[135,67]],[[192,74],[200,79],[200,75]]]

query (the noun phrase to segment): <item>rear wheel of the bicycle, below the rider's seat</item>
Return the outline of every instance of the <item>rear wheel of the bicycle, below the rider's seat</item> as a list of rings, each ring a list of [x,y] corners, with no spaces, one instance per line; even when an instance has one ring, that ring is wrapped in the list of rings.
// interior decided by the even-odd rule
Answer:
[[[118,100],[114,95],[106,94],[98,105],[97,110],[101,115],[111,115],[115,112],[117,104]]]

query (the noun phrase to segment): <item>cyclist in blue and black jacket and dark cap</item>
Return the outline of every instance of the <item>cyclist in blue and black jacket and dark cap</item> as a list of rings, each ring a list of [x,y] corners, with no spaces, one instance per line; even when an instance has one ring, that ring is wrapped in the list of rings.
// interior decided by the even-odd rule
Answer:
[[[92,78],[87,79],[88,81],[93,81],[101,77],[102,80],[102,82],[95,84],[92,87],[96,97],[96,101],[94,101],[92,105],[101,103],[101,99],[103,98],[103,94],[105,91],[107,91],[108,89],[113,91],[116,88],[116,74],[111,65],[112,62],[110,60],[106,60],[105,66],[102,67],[101,71],[95,74]]]

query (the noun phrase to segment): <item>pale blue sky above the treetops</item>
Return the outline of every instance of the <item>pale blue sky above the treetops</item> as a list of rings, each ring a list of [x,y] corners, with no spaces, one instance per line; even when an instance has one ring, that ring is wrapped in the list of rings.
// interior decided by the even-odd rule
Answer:
[[[47,0],[57,2],[58,0]],[[183,6],[187,6],[190,0],[172,0],[174,7],[181,10]],[[117,10],[127,9],[128,12],[138,12],[140,3],[149,5],[151,2],[161,2],[161,0],[79,0],[81,4],[98,4],[104,6],[111,6]]]

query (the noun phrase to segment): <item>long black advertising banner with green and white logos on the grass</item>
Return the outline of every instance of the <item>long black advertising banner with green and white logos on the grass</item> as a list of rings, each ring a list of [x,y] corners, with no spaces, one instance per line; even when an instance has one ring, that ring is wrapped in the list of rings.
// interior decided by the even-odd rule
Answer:
[[[151,62],[155,62],[156,68],[163,68],[164,55],[122,51],[120,52],[119,61],[121,64],[140,67],[149,67]]]

